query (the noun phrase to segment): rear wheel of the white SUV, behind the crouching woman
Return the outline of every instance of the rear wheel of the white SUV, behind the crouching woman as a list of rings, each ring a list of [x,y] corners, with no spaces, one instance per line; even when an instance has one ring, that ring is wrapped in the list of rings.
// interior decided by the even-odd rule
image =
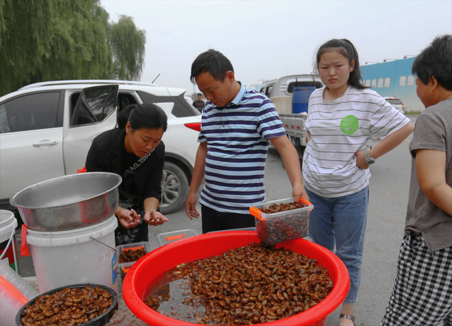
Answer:
[[[175,212],[184,205],[189,195],[189,179],[180,167],[165,162],[162,177],[162,200],[159,205],[163,215]]]

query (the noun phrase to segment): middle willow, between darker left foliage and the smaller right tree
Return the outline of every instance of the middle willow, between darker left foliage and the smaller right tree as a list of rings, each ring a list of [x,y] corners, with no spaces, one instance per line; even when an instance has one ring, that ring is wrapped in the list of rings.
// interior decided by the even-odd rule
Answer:
[[[49,52],[37,64],[40,80],[109,78],[109,15],[97,1],[56,1]],[[39,77],[39,76],[37,76]]]

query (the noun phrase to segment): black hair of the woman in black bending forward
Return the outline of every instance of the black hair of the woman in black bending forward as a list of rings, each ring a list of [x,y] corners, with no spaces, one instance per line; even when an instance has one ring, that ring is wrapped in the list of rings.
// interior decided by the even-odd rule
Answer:
[[[153,103],[132,104],[121,110],[118,116],[119,128],[126,128],[130,122],[132,130],[141,128],[160,129],[167,131],[168,117],[161,107]]]

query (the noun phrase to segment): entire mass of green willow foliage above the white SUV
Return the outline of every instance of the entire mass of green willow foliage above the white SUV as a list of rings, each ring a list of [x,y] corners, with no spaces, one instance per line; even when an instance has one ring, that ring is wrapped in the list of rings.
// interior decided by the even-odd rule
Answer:
[[[0,0],[0,95],[45,80],[138,80],[145,32],[99,0]]]

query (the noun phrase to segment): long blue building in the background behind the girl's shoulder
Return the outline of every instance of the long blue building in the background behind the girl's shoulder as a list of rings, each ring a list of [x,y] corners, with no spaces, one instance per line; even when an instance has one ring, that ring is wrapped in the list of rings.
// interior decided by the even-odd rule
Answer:
[[[398,97],[405,105],[405,112],[424,111],[424,105],[416,95],[416,77],[411,67],[415,58],[400,59],[361,66],[364,85],[383,97]]]

